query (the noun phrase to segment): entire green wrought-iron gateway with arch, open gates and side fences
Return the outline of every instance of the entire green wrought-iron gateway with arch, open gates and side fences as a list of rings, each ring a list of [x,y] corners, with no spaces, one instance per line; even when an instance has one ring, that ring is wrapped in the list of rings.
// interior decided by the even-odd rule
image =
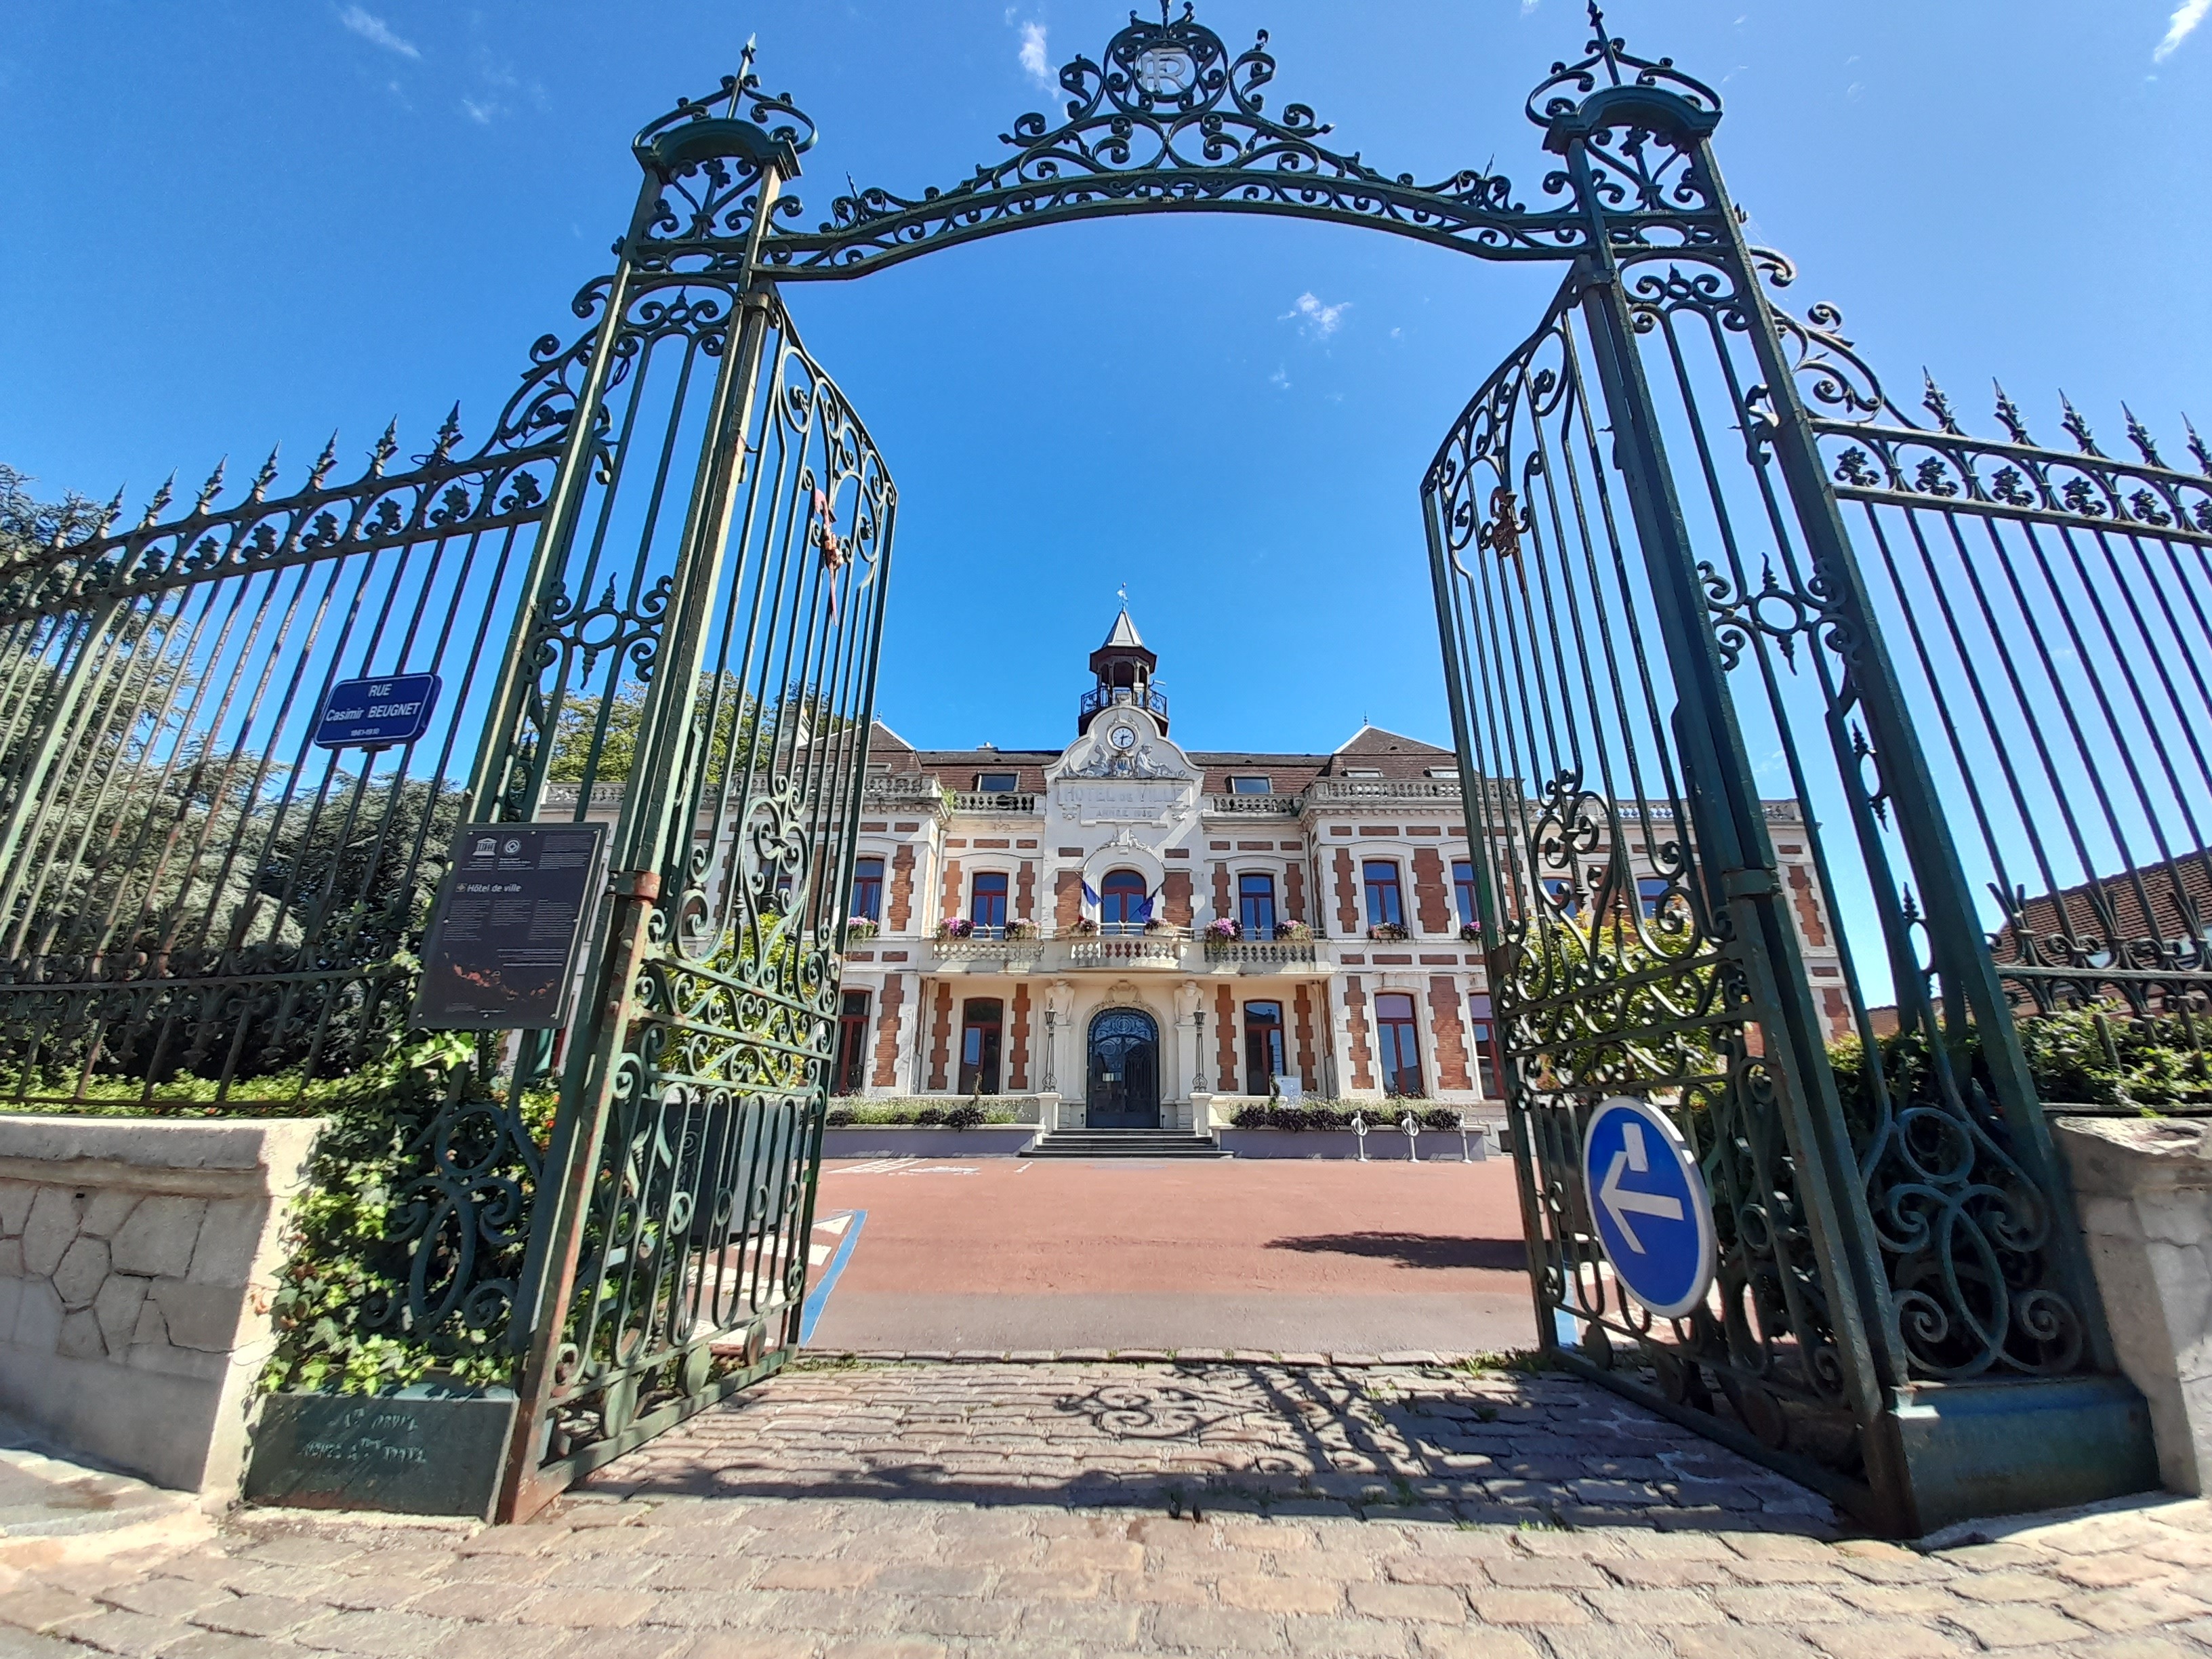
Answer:
[[[2208,1006],[2212,456],[2132,418],[2106,456],[2070,407],[2044,449],[2002,394],[2004,440],[1933,387],[1902,414],[1832,310],[1776,303],[1714,91],[1590,24],[1526,102],[1533,197],[1336,148],[1270,108],[1265,33],[1186,4],[971,177],[812,228],[814,124],[748,53],[639,133],[615,272],[478,453],[449,422],[387,476],[387,434],[265,500],[272,458],[234,507],[217,471],[4,571],[18,1097],[389,1064],[453,827],[619,801],[571,1026],[394,1106],[414,1183],[361,1316],[515,1385],[531,1513],[796,1343],[898,495],[787,285],[1135,212],[1555,261],[1422,482],[1542,1340],[1893,1531],[2152,1484],[2031,1048]],[[314,750],[319,692],[372,675],[440,675],[431,728]],[[1770,838],[1801,816],[1818,891]],[[1093,1068],[1157,1066],[1115,1035]],[[1674,1318],[1619,1294],[1577,1168],[1619,1095],[1712,1199]]]

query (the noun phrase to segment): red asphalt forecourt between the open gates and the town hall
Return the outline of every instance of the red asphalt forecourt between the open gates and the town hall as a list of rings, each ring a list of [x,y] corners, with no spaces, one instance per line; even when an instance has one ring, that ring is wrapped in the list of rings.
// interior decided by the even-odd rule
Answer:
[[[816,1349],[1528,1347],[1511,1159],[843,1159]]]

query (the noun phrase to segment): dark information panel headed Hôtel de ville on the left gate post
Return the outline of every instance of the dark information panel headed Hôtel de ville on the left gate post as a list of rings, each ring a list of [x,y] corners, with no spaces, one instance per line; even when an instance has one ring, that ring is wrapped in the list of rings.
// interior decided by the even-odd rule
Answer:
[[[429,1031],[566,1024],[604,838],[602,823],[467,825],[431,911],[414,1022]]]

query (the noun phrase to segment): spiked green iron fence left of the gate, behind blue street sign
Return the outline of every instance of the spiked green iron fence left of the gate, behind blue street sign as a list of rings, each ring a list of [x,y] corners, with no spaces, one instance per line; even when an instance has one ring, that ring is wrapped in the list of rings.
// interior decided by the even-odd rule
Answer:
[[[0,1044],[20,1102],[283,1108],[387,1057],[560,451],[540,365],[473,456],[190,509],[0,568]],[[436,675],[429,728],[319,748],[330,688]]]

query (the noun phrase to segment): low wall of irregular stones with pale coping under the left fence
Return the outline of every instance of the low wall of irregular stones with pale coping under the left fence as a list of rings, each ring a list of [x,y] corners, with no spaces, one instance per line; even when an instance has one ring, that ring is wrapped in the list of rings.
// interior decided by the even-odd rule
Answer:
[[[228,1500],[319,1128],[0,1115],[0,1407]]]

